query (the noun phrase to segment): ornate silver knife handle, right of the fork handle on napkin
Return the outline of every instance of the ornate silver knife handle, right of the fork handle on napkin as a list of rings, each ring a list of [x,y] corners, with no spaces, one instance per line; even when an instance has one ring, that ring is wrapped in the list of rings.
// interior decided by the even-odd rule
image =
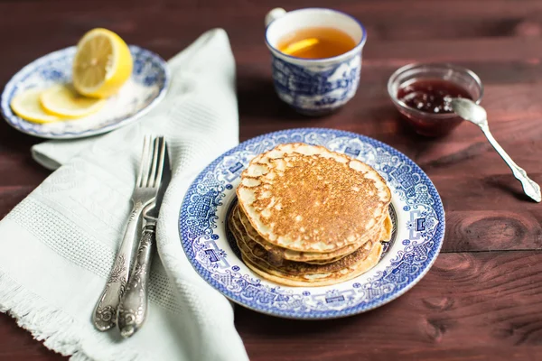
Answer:
[[[148,307],[148,283],[154,249],[155,223],[145,225],[130,273],[126,292],[118,306],[117,325],[120,334],[129,338],[141,328]]]

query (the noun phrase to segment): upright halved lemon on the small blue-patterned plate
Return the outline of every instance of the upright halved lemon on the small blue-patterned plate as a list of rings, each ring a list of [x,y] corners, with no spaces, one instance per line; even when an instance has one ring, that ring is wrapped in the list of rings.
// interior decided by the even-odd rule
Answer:
[[[130,50],[115,32],[94,29],[77,44],[73,60],[73,86],[87,97],[109,97],[130,78]]]

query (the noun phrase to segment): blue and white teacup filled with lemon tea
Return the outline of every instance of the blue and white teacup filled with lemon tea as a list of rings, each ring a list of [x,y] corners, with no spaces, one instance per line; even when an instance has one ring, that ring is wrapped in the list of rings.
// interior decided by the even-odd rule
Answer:
[[[367,32],[355,18],[332,9],[274,9],[266,25],[276,93],[285,103],[321,116],[356,94]]]

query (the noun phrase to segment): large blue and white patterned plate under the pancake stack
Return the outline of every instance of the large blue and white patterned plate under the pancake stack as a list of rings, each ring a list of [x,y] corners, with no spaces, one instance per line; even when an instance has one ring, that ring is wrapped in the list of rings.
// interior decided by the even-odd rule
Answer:
[[[257,154],[292,142],[346,153],[388,181],[393,236],[368,273],[332,286],[285,287],[262,279],[240,260],[226,222],[240,173]],[[443,243],[444,208],[424,171],[389,145],[350,132],[302,128],[258,136],[211,162],[184,197],[179,231],[195,270],[230,300],[279,317],[333,319],[381,306],[420,281]]]

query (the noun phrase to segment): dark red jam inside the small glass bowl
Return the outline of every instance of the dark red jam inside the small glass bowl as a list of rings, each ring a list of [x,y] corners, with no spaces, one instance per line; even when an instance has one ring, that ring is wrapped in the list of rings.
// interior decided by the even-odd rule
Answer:
[[[425,113],[420,115],[407,110],[401,112],[417,133],[429,136],[447,134],[463,121],[457,116],[444,119],[436,116],[453,113],[449,101],[452,97],[472,99],[466,89],[443,79],[417,80],[397,91],[397,99],[406,106]]]

